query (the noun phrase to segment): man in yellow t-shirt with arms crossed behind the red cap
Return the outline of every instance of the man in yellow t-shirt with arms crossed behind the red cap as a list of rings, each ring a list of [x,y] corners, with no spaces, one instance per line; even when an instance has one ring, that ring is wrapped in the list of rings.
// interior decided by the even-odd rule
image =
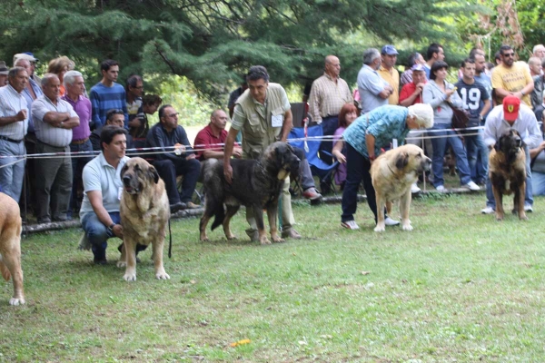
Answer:
[[[492,88],[496,104],[513,95],[531,107],[530,93],[534,89],[528,65],[515,62],[515,51],[510,45],[500,47],[501,64],[492,70]]]

